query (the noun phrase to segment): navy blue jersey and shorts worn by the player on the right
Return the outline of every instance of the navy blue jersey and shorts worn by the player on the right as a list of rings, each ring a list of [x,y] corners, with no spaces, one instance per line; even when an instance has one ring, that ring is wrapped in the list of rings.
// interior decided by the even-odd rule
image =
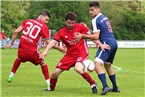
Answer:
[[[111,49],[103,51],[100,47],[96,53],[96,58],[101,59],[103,62],[113,63],[118,45],[117,41],[113,35],[111,24],[106,16],[102,13],[99,13],[93,20],[92,20],[93,32],[99,33],[99,40],[102,43],[109,44]]]

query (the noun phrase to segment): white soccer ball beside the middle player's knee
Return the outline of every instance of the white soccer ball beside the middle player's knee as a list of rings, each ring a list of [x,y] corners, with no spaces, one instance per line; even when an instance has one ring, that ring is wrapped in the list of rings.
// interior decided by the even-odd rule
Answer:
[[[85,72],[92,72],[95,69],[95,64],[91,60],[83,61],[84,71]]]

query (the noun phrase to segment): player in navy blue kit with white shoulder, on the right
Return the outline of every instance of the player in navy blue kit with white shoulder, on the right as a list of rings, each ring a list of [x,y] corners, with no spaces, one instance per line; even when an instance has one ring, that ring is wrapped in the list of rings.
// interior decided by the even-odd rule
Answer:
[[[100,11],[100,6],[97,1],[92,1],[89,4],[90,7],[90,14],[94,17],[92,20],[92,26],[93,26],[93,33],[91,35],[85,35],[78,33],[76,34],[76,39],[95,39],[97,40],[96,43],[99,45],[102,44],[108,44],[110,46],[109,49],[102,50],[101,47],[98,48],[98,51],[95,56],[95,71],[98,74],[98,77],[103,85],[103,90],[101,95],[105,95],[107,92],[120,92],[117,84],[116,84],[116,74],[114,70],[111,67],[111,64],[113,63],[118,45],[116,42],[116,39],[113,35],[111,24],[106,16],[104,16]],[[102,68],[102,65],[104,64],[104,67],[109,75],[109,78],[112,82],[113,89],[111,89],[106,82],[106,75]]]

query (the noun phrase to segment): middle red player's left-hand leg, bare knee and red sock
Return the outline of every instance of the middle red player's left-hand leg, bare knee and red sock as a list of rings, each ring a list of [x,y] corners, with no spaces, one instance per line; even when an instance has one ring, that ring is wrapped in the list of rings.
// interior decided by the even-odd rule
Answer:
[[[56,68],[53,73],[51,74],[51,79],[50,79],[50,88],[51,91],[55,90],[56,87],[56,83],[58,80],[58,76],[63,72],[64,70],[60,69],[60,68]]]

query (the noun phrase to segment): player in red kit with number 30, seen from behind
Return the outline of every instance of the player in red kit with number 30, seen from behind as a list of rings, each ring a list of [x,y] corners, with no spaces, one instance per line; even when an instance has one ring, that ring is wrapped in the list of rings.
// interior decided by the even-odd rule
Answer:
[[[8,82],[11,82],[14,74],[19,68],[21,62],[31,62],[34,65],[40,64],[42,73],[45,77],[47,88],[50,88],[50,77],[47,64],[42,58],[39,57],[40,51],[38,49],[38,41],[41,37],[45,38],[46,42],[49,44],[49,30],[46,25],[50,19],[50,14],[47,11],[42,11],[36,20],[28,19],[22,22],[22,24],[14,31],[12,35],[12,40],[10,44],[6,44],[5,48],[11,47],[18,33],[22,32],[20,37],[20,43],[18,47],[18,58],[16,58],[11,73],[7,79]],[[63,51],[62,48],[54,46],[54,48]]]

